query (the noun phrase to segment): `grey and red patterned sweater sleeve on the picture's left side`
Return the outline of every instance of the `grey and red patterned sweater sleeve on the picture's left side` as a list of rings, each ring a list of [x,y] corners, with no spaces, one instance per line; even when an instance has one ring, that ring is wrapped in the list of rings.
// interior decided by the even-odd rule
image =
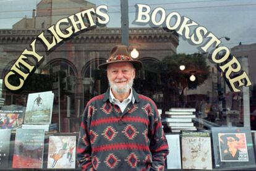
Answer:
[[[77,143],[77,162],[82,170],[94,170],[92,165],[92,147],[90,144],[90,134],[88,125],[89,107],[85,107],[82,115],[82,122],[79,130],[79,140]]]

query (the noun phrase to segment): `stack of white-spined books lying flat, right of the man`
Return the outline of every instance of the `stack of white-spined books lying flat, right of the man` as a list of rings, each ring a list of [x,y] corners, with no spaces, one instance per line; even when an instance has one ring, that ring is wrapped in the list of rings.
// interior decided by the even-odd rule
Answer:
[[[194,131],[194,123],[192,118],[195,118],[194,108],[171,108],[166,111],[166,118],[162,119],[164,125],[171,129],[172,132],[180,132],[183,130]]]

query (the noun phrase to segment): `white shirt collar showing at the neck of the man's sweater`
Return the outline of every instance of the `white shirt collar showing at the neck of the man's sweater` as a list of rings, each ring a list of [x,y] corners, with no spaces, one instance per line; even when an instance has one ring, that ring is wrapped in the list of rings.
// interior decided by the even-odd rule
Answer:
[[[120,107],[121,111],[124,112],[124,109],[126,109],[127,105],[129,104],[129,102],[132,101],[132,104],[134,104],[135,102],[135,99],[134,99],[134,96],[132,96],[132,88],[130,89],[130,94],[129,96],[124,99],[122,102],[120,102],[118,99],[116,99],[114,97],[114,94],[112,92],[112,89],[109,88],[109,101],[112,103],[112,104],[116,104],[117,106]]]

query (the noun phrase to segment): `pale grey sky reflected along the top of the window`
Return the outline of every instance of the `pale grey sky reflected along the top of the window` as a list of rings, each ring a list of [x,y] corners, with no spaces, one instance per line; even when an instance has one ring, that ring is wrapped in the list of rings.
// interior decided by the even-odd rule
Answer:
[[[53,1],[64,2],[68,0]],[[0,29],[12,28],[12,25],[23,17],[31,18],[32,10],[36,9],[36,4],[39,2],[40,0],[1,0]],[[90,2],[96,4],[96,6],[100,4],[108,5],[108,15],[110,17],[108,27],[121,26],[120,1],[91,0]],[[155,7],[163,7],[167,15],[174,11],[179,12],[181,16],[184,15],[206,27],[217,37],[227,36],[231,38],[229,41],[223,39],[223,45],[228,46],[228,48],[233,48],[239,42],[242,44],[256,42],[256,1],[254,0],[129,0],[129,27],[142,27],[132,24],[135,20],[134,6],[137,3],[150,5],[151,11]],[[143,27],[150,26],[145,25]],[[196,46],[191,46],[186,40],[180,38],[177,52],[198,52],[196,48]]]

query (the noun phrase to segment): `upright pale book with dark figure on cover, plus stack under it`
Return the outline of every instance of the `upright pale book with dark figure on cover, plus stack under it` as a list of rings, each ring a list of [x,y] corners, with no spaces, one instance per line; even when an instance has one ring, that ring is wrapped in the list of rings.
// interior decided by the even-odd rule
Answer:
[[[54,93],[52,91],[28,94],[22,128],[57,131],[57,123],[51,123],[53,98]]]

